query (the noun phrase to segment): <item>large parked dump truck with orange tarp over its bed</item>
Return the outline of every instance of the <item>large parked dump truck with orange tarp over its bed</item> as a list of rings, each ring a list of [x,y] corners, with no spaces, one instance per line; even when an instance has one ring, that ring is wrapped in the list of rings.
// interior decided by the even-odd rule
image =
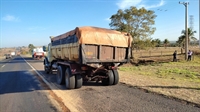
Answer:
[[[67,89],[85,81],[103,85],[119,82],[118,67],[129,61],[131,39],[127,33],[98,27],[76,27],[56,37],[44,48],[44,71],[57,71],[56,81]]]

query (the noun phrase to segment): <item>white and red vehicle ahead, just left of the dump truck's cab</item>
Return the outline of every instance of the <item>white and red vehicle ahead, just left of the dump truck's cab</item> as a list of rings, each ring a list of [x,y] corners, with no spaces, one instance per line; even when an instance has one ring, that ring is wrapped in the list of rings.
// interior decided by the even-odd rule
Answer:
[[[42,59],[44,56],[45,55],[42,47],[37,47],[32,50],[32,57],[34,59]]]

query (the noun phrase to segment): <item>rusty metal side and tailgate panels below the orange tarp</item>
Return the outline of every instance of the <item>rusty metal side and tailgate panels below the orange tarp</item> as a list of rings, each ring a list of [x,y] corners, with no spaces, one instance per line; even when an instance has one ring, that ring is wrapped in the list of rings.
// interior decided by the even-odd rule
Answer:
[[[127,60],[127,48],[125,47],[86,44],[79,49],[78,44],[69,44],[53,46],[51,50],[52,56],[57,59],[71,60],[77,63],[84,60],[82,64],[126,62]]]

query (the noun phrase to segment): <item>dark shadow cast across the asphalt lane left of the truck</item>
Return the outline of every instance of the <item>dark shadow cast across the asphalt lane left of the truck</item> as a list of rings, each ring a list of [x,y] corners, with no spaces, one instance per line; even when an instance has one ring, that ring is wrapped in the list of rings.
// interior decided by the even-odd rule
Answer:
[[[0,95],[36,90],[50,90],[40,79],[38,80],[36,74],[30,71],[0,72]]]

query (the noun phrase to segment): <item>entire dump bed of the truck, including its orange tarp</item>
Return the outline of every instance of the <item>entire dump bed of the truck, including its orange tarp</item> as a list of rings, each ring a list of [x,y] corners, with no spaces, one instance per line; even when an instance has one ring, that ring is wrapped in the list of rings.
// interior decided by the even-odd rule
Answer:
[[[77,27],[51,38],[51,56],[81,64],[128,61],[132,37],[97,27]]]

